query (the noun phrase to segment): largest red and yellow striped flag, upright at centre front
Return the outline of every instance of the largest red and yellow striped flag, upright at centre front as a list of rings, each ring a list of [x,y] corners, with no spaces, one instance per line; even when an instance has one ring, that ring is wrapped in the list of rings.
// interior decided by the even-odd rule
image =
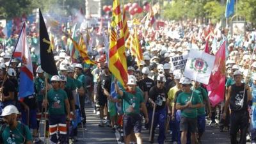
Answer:
[[[125,40],[123,31],[120,1],[113,0],[109,44],[109,70],[116,79],[125,86],[127,83],[127,62],[125,56]]]

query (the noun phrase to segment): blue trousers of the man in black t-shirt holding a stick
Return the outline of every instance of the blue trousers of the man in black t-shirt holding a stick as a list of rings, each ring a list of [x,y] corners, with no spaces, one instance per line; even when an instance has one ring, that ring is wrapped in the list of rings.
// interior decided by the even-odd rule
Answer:
[[[151,120],[152,120],[152,114],[153,111],[149,112],[149,124],[151,124]],[[166,109],[160,109],[158,111],[155,111],[155,115],[154,115],[154,124],[153,124],[153,131],[152,131],[152,138],[154,138],[154,134],[155,134],[155,129],[157,127],[157,124],[159,125],[159,136],[157,138],[157,141],[159,144],[163,144],[164,140],[165,140],[165,120],[166,120]]]

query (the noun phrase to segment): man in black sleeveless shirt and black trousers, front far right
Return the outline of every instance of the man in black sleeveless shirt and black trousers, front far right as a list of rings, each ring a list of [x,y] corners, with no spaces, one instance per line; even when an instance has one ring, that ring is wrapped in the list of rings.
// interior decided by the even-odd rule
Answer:
[[[240,143],[246,143],[246,132],[249,127],[248,102],[252,100],[252,93],[247,84],[242,83],[243,74],[239,70],[234,72],[235,83],[228,87],[227,99],[223,118],[230,113],[230,143],[237,143],[237,132],[240,131]]]

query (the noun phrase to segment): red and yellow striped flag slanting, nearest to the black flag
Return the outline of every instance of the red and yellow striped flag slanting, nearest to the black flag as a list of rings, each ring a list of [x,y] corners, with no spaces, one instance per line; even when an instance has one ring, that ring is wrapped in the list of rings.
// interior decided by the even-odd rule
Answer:
[[[91,60],[86,51],[86,45],[84,44],[83,36],[80,36],[79,44],[73,38],[69,37],[72,40],[72,43],[77,51],[79,51],[81,57],[83,58],[84,62],[87,64],[95,65],[96,62]]]

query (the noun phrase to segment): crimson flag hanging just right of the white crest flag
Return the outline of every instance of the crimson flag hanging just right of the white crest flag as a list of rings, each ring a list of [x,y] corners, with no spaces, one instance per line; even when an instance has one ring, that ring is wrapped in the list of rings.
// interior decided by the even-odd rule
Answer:
[[[215,54],[214,67],[207,86],[212,106],[216,106],[225,97],[225,46],[226,41],[223,42]]]

